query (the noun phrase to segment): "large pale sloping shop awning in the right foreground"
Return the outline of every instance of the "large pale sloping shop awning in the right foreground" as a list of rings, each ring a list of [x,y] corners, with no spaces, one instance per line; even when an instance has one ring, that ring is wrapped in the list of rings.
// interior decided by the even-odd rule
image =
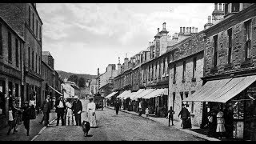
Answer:
[[[222,102],[225,103],[231,98],[245,90],[256,81],[256,75],[226,78],[206,82],[199,90],[196,90],[190,97],[183,102]]]

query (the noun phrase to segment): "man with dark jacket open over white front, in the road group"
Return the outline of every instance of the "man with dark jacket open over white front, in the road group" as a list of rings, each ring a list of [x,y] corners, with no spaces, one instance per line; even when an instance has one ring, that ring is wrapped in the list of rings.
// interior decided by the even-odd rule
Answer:
[[[62,119],[62,126],[65,126],[64,114],[65,114],[65,110],[66,110],[66,104],[64,102],[63,96],[60,96],[58,98],[58,101],[55,102],[55,108],[56,108],[56,112],[57,112],[57,124],[56,124],[56,126],[58,126],[59,118]]]

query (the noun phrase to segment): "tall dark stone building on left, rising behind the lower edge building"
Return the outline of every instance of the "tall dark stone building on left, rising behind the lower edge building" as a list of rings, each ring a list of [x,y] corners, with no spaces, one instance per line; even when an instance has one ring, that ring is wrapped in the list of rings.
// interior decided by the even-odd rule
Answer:
[[[24,101],[29,101],[36,94],[36,105],[38,106],[42,90],[42,20],[36,9],[36,4],[1,3],[0,16],[6,19],[12,29],[17,31],[25,41],[22,49],[22,55],[24,55],[22,95],[24,95]]]

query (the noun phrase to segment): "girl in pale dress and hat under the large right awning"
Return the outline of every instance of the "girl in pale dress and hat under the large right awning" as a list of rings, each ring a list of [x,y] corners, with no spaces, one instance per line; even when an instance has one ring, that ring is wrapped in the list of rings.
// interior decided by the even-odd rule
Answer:
[[[223,115],[224,115],[223,112],[219,110],[217,114],[217,128],[216,128],[216,133],[218,134],[218,138],[224,138],[224,134],[226,132],[225,120],[223,118]]]

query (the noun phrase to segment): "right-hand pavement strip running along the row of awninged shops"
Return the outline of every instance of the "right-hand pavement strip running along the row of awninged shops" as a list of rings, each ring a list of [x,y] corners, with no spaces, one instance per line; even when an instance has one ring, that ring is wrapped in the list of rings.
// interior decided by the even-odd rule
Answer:
[[[109,109],[113,109],[114,110],[114,107],[111,107],[111,106],[106,106],[105,108],[109,108]],[[120,111],[129,113],[129,114],[138,115],[138,113],[134,112],[134,111],[128,111],[128,110],[120,110]],[[160,123],[168,126],[168,120],[166,118],[155,118],[155,117],[151,117],[151,116],[146,117],[146,114],[142,114],[142,117],[143,118],[148,118],[148,119],[153,120],[155,122],[160,122]],[[200,134],[200,133],[195,132],[196,130],[200,130],[200,127],[198,127],[198,126],[192,126],[191,129],[182,129],[181,122],[174,121],[174,128],[176,128],[178,130],[182,130],[182,131],[184,131],[184,132],[186,132],[188,134],[193,134],[194,136],[196,136],[198,138],[206,139],[207,141],[221,141],[218,138],[210,138],[206,134]]]

